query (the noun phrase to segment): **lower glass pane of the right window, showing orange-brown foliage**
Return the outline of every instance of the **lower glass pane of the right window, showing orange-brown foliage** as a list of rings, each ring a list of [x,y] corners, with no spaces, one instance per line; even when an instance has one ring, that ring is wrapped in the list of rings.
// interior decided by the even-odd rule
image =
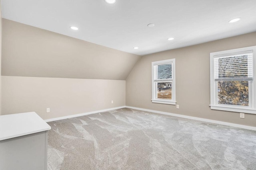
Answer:
[[[224,81],[218,83],[218,104],[249,106],[248,81]]]

